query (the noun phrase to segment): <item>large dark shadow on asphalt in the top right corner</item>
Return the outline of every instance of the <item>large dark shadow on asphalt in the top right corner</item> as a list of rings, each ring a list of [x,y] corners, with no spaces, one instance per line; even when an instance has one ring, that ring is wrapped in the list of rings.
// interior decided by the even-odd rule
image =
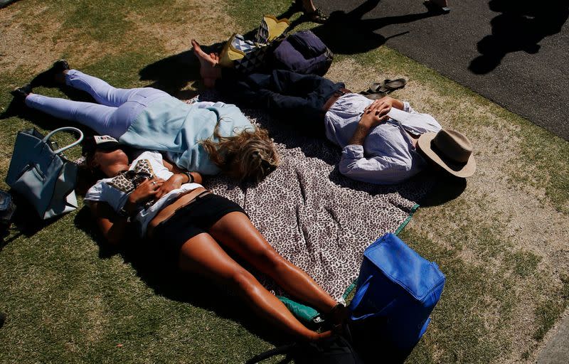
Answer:
[[[538,43],[559,33],[569,18],[567,1],[549,1],[544,5],[531,0],[491,0],[488,5],[501,14],[490,21],[492,34],[477,44],[481,55],[469,65],[469,70],[477,75],[494,70],[508,53],[538,53]]]

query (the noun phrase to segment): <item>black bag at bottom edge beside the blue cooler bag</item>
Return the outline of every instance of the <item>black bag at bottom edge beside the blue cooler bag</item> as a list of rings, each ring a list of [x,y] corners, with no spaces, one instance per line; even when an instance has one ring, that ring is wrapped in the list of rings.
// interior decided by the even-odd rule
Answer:
[[[275,355],[286,354],[296,364],[363,364],[343,336],[334,335],[310,343],[293,343],[255,355],[245,364],[255,364]],[[285,363],[287,363],[285,361]]]

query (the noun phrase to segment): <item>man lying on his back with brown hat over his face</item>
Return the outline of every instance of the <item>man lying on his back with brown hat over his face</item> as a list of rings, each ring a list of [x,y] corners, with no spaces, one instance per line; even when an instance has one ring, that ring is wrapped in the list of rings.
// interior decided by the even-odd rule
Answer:
[[[266,108],[302,132],[324,129],[342,148],[339,171],[357,181],[400,183],[428,166],[454,176],[472,176],[472,143],[459,132],[442,129],[429,114],[408,102],[385,96],[369,100],[344,83],[287,70],[242,75],[218,67],[218,55],[206,54],[193,40],[204,84],[238,102]]]

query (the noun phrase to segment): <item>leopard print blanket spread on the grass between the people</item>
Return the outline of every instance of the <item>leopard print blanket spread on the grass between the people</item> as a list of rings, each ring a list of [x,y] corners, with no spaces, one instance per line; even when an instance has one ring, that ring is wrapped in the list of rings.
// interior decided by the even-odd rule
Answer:
[[[216,95],[201,95],[200,100],[216,100]],[[353,181],[337,169],[337,146],[283,128],[261,110],[242,111],[270,132],[281,164],[256,186],[217,176],[208,178],[206,187],[243,206],[280,255],[343,302],[358,277],[363,250],[385,232],[403,227],[429,183],[417,178],[397,186]],[[260,279],[282,295],[275,284]]]

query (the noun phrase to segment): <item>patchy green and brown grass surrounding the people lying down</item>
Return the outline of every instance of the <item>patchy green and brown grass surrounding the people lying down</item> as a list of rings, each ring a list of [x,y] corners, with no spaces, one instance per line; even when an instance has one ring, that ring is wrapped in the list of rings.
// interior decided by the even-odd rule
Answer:
[[[59,58],[118,87],[156,85],[190,97],[201,85],[187,53],[191,38],[223,42],[288,6],[16,1],[0,9],[0,112],[9,111],[9,90]],[[329,72],[352,90],[395,76],[409,83],[394,96],[467,134],[478,163],[462,193],[445,198],[453,186],[438,186],[400,234],[447,275],[408,363],[532,363],[569,303],[568,142],[384,46],[337,54]],[[18,130],[67,124],[33,112],[4,115],[0,188],[8,189]],[[109,250],[83,205],[37,232],[11,232],[0,251],[0,311],[8,316],[0,363],[243,363],[287,341],[231,296],[174,274],[136,246]]]

